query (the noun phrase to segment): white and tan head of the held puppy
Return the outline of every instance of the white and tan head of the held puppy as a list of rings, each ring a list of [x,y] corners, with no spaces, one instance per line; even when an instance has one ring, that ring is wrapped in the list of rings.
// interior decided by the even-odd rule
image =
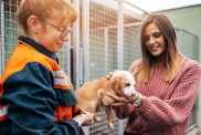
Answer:
[[[115,71],[109,83],[113,89],[123,96],[133,96],[136,93],[135,79],[128,71]]]

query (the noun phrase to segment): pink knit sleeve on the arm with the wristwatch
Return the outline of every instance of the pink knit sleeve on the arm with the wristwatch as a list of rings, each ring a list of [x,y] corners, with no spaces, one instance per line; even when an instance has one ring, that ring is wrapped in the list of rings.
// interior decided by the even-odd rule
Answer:
[[[149,96],[142,101],[137,108],[141,120],[149,126],[174,125],[187,121],[197,100],[200,74],[200,65],[194,62],[181,73],[169,100]]]

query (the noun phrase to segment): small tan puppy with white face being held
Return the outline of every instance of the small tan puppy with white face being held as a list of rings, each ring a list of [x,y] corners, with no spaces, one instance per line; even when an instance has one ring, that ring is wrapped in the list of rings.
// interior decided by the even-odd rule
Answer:
[[[133,96],[136,94],[135,83],[133,74],[128,71],[115,71],[109,80],[100,77],[88,82],[75,92],[78,107],[83,112],[91,113],[106,111],[108,126],[114,129],[112,104],[115,101],[107,93],[125,97]],[[95,115],[94,120],[100,121],[100,117]]]

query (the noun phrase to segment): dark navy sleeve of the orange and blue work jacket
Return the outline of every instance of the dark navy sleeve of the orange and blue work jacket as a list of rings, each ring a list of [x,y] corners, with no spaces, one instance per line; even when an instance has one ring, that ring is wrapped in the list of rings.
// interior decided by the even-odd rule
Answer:
[[[6,80],[1,100],[9,105],[11,134],[78,135],[77,122],[55,122],[53,81],[51,71],[39,63],[28,63]]]

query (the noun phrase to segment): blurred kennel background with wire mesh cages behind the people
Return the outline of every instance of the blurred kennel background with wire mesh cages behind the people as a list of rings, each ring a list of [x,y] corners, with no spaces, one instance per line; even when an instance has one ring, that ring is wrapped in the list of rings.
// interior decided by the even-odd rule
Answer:
[[[14,12],[20,0],[0,0],[0,76],[17,45],[20,28]],[[71,41],[57,53],[75,91],[113,70],[128,70],[140,52],[140,27],[152,12],[166,14],[174,25],[180,51],[201,62],[201,0],[72,0],[78,11]],[[201,96],[201,92],[199,91]],[[103,121],[84,127],[86,135],[123,135],[126,120],[114,118],[115,131]],[[114,115],[115,116],[115,115]],[[193,106],[187,135],[199,134],[201,98]]]

